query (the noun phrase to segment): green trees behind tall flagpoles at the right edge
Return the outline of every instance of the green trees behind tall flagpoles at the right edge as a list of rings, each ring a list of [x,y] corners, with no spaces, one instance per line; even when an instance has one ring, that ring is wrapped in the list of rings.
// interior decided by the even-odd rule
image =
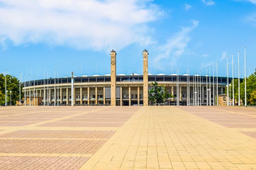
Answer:
[[[233,89],[231,82],[231,99],[233,98]],[[245,101],[245,93],[244,93],[244,79],[243,82],[240,83],[240,99],[244,103]],[[227,94],[227,88],[226,88]],[[256,105],[256,69],[255,73],[251,74],[246,78],[246,96],[247,96],[247,105]],[[238,79],[234,80],[234,98],[238,101]]]

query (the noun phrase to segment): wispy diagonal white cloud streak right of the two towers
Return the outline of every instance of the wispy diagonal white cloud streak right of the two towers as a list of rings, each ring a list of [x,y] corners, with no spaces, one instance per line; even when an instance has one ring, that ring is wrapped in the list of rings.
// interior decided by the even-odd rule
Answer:
[[[180,32],[169,38],[164,45],[158,47],[158,55],[154,58],[154,62],[157,63],[157,68],[163,70],[163,64],[171,63],[168,60],[172,60],[175,65],[175,58],[180,57],[190,41],[189,33],[195,29],[199,24],[199,21],[193,20],[192,26],[183,27]]]

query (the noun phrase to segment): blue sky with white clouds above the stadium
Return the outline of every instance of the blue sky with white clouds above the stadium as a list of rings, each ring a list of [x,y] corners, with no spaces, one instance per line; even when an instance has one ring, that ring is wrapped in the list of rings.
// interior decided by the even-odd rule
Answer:
[[[0,0],[0,16],[0,72],[16,77],[109,74],[112,49],[117,74],[142,74],[144,49],[151,74],[205,74],[218,61],[226,76],[234,53],[237,77],[240,50],[242,77],[244,46],[247,73],[256,68],[256,0]]]

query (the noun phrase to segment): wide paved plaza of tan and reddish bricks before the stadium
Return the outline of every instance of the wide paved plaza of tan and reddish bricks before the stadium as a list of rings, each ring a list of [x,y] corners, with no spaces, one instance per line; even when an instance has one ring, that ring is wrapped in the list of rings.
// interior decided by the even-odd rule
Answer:
[[[0,108],[0,170],[256,170],[256,108]]]

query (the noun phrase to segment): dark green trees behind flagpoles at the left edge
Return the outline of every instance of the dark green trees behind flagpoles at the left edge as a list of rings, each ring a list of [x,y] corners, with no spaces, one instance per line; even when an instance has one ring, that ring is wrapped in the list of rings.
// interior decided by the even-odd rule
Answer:
[[[12,105],[16,105],[16,101],[19,101],[20,96],[21,99],[23,98],[24,94],[22,92],[20,93],[20,88],[22,89],[23,86],[20,86],[20,81],[16,77],[6,75],[8,105],[10,104],[10,91],[12,91]],[[5,76],[3,74],[0,74],[0,105],[2,104],[5,104]]]

